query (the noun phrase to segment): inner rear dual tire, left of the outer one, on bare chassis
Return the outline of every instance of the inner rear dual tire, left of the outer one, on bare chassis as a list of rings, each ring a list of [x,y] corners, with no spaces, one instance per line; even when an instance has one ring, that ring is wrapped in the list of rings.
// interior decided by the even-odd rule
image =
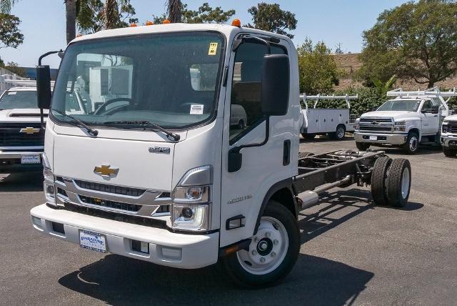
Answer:
[[[387,206],[387,174],[391,167],[392,159],[390,157],[379,157],[373,166],[371,172],[371,197],[373,202],[378,206]]]

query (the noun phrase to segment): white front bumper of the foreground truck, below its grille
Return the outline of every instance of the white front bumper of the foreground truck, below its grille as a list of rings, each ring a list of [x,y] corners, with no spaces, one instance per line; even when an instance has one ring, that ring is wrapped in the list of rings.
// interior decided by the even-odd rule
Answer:
[[[79,245],[79,231],[104,234],[106,251],[154,262],[157,265],[195,269],[213,265],[218,260],[219,232],[209,235],[185,235],[144,225],[53,209],[46,204],[30,211],[36,230]],[[53,222],[64,225],[64,233],[54,231]],[[132,240],[149,243],[149,254],[132,249]]]

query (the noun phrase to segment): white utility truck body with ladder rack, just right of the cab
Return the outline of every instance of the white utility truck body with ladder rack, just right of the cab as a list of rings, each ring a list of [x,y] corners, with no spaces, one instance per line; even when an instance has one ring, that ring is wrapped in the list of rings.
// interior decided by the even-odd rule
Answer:
[[[301,124],[300,133],[304,139],[313,139],[316,135],[328,134],[336,140],[344,139],[346,132],[353,132],[356,127],[355,117],[351,117],[351,99],[357,99],[357,96],[325,96],[318,94],[316,96],[306,96],[301,94],[301,115],[303,123]],[[308,100],[315,100],[313,107],[308,107]],[[347,108],[321,109],[318,103],[321,100],[344,100]],[[304,107],[303,107],[304,106]]]

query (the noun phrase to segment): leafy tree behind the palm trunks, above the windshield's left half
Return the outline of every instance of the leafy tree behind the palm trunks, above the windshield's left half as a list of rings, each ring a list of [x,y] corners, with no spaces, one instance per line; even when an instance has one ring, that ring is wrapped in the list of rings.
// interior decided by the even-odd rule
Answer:
[[[116,1],[114,1],[116,2]],[[79,0],[76,7],[77,15],[76,21],[78,23],[78,30],[81,34],[91,34],[102,29],[115,29],[124,28],[129,26],[132,22],[138,22],[138,19],[133,18],[136,14],[134,6],[130,4],[129,0],[122,1],[120,9],[117,3],[110,2],[109,27],[105,26],[105,10],[106,3],[101,0]]]

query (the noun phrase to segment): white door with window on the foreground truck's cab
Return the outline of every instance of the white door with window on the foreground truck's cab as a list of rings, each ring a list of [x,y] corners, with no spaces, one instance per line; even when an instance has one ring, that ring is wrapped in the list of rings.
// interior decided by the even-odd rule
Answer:
[[[285,43],[272,43],[271,54],[286,54],[286,46]],[[292,169],[296,168],[296,164],[292,167],[284,157],[285,154],[290,157],[290,154],[294,154],[295,151],[298,154],[298,116],[300,115],[298,104],[296,122],[293,119],[286,122],[283,117],[270,117],[268,141],[261,147],[241,149],[241,169],[229,172],[228,168],[230,149],[242,144],[258,144],[266,137],[266,118],[261,112],[261,71],[263,56],[267,54],[267,50],[265,44],[246,39],[238,46],[235,53],[231,54],[222,145],[221,247],[253,235],[253,227],[266,192],[276,182],[290,178]],[[295,71],[293,63],[294,61],[291,60],[291,71]],[[291,75],[291,82],[294,82],[296,76]],[[298,86],[296,92],[295,95],[293,92],[289,95],[289,109],[293,97],[298,98]],[[243,127],[229,124],[230,115],[227,112],[233,110],[231,105],[234,104],[242,107],[246,112],[246,124]],[[296,135],[291,132],[295,123]],[[245,226],[227,230],[227,220],[237,216],[245,218],[243,219]]]

